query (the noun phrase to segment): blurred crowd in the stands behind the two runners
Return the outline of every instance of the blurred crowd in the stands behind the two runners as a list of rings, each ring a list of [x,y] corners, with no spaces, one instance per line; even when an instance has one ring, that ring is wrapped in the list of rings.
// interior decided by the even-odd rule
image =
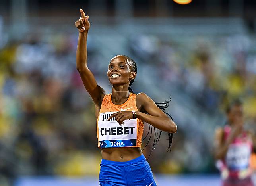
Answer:
[[[119,26],[113,31],[105,25],[97,32],[92,19],[88,66],[110,92],[109,61],[128,55],[138,66],[135,93],[145,92],[155,102],[171,96],[167,112],[178,131],[171,153],[164,132],[149,157],[151,137],[144,154],[153,172],[217,173],[214,130],[225,125],[225,108],[233,99],[243,101],[245,127],[256,131],[256,34],[246,29],[144,32],[139,24],[133,32]],[[2,34],[0,181],[19,175],[99,173],[95,107],[76,70],[77,39],[75,26],[72,31],[28,32],[19,39]],[[144,134],[148,130],[145,125]]]

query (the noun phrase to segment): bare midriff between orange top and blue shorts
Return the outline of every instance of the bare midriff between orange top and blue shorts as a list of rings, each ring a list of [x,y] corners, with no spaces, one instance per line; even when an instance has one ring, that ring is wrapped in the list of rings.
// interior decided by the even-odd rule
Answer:
[[[101,149],[102,159],[110,161],[130,161],[142,155],[140,147],[111,147]]]

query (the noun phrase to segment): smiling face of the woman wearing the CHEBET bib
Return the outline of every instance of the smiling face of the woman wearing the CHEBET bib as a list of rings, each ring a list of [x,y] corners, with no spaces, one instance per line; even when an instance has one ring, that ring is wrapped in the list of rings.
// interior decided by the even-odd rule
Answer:
[[[130,84],[136,77],[136,72],[132,72],[132,62],[126,56],[115,56],[109,63],[107,76],[112,85]]]

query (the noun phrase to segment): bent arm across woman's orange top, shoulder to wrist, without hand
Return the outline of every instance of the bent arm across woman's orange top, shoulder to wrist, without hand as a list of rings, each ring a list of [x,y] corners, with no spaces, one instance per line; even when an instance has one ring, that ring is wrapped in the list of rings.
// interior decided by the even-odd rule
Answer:
[[[154,127],[165,132],[176,133],[177,125],[171,120],[161,109],[157,107],[155,102],[145,93],[136,95],[136,99],[141,103],[142,109],[148,114],[136,111],[136,117],[153,125]]]

